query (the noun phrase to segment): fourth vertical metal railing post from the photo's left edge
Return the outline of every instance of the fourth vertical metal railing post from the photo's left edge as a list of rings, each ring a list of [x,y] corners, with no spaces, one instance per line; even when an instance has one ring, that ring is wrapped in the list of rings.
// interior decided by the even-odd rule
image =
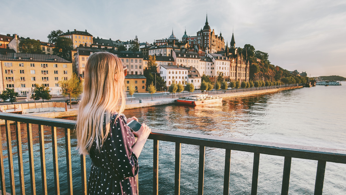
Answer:
[[[28,137],[28,150],[29,150],[29,162],[30,162],[31,194],[36,195],[33,133],[32,133],[31,123],[26,124],[26,131],[27,131],[27,137]]]

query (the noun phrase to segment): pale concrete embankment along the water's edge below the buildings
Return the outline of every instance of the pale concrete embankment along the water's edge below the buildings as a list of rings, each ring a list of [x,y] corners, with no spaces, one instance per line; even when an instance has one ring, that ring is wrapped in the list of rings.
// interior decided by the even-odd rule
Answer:
[[[243,96],[243,95],[252,95],[252,94],[260,94],[260,93],[266,93],[266,92],[274,92],[274,91],[281,91],[281,90],[288,90],[288,89],[296,89],[296,88],[302,88],[302,86],[294,86],[294,87],[281,87],[281,88],[274,88],[274,89],[261,89],[261,90],[252,90],[246,91],[237,91],[237,92],[231,92],[226,94],[215,94],[214,96],[219,97],[233,97],[233,96]],[[213,94],[210,94],[213,95]],[[141,107],[148,107],[148,106],[156,106],[156,105],[163,105],[163,104],[171,104],[175,103],[175,100],[177,98],[159,98],[159,99],[148,99],[143,100],[143,103],[127,103],[125,109],[134,109],[134,108],[141,108]],[[45,113],[30,113],[32,116],[42,116],[42,117],[49,117],[49,118],[63,118],[63,117],[69,117],[69,116],[76,116],[78,108],[72,108],[68,109],[67,112],[45,112]]]

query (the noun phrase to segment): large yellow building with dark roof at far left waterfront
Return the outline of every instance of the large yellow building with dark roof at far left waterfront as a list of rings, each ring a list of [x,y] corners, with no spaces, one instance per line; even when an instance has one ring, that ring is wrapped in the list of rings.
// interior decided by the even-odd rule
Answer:
[[[0,91],[14,88],[20,96],[31,96],[35,84],[49,87],[51,95],[61,95],[59,81],[72,76],[72,63],[56,55],[0,54]]]

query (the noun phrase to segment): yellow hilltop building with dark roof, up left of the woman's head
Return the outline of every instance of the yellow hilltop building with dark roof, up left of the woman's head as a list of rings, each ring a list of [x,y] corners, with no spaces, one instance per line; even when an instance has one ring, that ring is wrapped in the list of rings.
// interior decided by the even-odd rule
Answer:
[[[66,37],[72,39],[73,48],[78,47],[80,44],[83,46],[90,46],[93,44],[92,35],[88,32],[79,31],[74,29],[74,31],[67,30],[66,33],[59,35],[60,37]]]

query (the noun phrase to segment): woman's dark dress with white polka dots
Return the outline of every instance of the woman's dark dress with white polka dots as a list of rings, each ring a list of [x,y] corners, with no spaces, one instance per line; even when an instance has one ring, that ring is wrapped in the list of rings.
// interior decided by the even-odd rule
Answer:
[[[132,146],[135,136],[126,125],[126,117],[111,118],[110,133],[100,151],[94,141],[91,158],[88,194],[137,195],[138,162]]]

